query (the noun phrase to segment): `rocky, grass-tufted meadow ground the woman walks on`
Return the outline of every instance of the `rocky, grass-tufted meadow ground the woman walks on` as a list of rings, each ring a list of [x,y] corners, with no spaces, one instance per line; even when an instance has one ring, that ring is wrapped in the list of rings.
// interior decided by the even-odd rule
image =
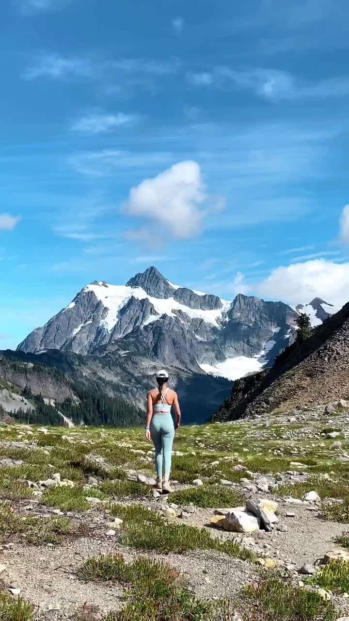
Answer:
[[[1,621],[349,619],[348,423],[181,428],[170,495],[143,429],[0,425]]]

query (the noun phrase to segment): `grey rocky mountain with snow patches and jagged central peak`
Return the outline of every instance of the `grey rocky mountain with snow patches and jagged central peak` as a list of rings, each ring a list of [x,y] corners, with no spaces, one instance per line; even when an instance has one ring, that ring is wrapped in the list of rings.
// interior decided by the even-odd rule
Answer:
[[[174,285],[150,267],[125,285],[87,285],[18,349],[137,354],[186,372],[236,379],[272,363],[292,341],[295,317],[283,302],[241,294],[220,299]]]

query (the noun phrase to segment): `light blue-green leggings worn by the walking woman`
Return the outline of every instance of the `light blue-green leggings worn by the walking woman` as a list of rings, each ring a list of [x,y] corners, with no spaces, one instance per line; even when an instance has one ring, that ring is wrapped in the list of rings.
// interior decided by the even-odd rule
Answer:
[[[150,435],[155,446],[155,468],[158,477],[170,478],[174,424],[171,414],[153,414]]]

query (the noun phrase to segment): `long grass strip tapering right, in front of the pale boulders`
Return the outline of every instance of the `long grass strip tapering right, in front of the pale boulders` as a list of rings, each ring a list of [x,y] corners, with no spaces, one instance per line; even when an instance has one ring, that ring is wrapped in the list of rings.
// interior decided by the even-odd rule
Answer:
[[[131,522],[125,524],[125,545],[137,550],[153,550],[159,553],[183,553],[187,550],[218,550],[235,558],[253,560],[249,550],[229,540],[221,542],[211,537],[206,528],[196,528],[184,524],[151,525]]]

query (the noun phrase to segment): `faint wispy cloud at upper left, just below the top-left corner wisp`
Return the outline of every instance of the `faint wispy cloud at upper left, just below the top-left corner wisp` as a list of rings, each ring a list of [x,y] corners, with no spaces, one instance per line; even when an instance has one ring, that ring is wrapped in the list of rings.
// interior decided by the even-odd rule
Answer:
[[[58,54],[42,54],[34,59],[24,72],[24,78],[32,80],[35,78],[61,79],[68,76],[88,76],[91,75],[92,67],[89,61],[83,58],[61,57]]]

